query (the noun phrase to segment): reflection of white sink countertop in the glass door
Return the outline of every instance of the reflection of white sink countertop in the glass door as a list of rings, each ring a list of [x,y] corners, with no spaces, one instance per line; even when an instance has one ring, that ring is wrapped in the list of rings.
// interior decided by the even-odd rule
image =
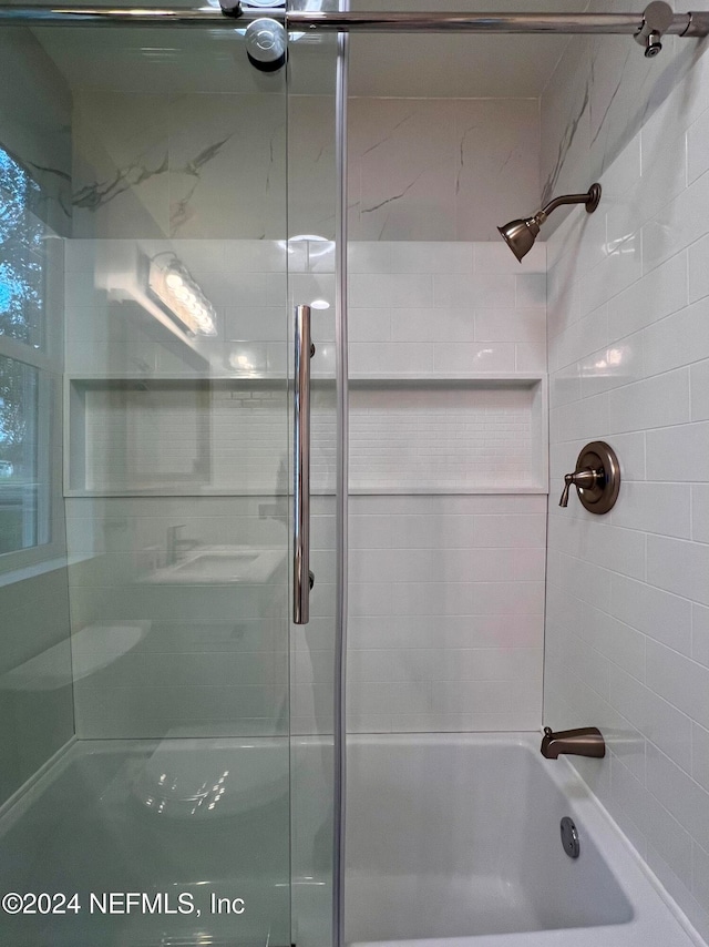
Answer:
[[[285,558],[284,549],[253,546],[203,546],[183,559],[156,569],[146,582],[168,584],[230,584],[267,582]]]

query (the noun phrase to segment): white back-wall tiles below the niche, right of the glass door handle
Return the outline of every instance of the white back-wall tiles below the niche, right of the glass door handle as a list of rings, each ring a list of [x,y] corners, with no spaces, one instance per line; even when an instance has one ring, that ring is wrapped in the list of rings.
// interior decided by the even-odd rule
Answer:
[[[299,733],[331,716],[332,526],[318,511],[312,617],[291,629]],[[351,732],[538,727],[545,521],[545,496],[350,498]]]

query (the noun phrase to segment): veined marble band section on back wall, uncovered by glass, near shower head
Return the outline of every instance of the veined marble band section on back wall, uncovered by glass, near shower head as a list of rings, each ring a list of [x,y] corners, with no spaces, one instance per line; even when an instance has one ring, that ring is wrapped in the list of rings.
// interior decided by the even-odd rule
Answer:
[[[534,99],[352,99],[350,238],[499,240],[536,205]]]

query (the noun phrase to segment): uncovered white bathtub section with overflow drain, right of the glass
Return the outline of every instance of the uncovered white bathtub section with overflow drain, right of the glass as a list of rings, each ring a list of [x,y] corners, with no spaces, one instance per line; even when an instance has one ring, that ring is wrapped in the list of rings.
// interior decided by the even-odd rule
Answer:
[[[348,739],[348,944],[703,943],[568,762],[542,757],[540,740]],[[564,816],[578,832],[576,859],[562,846]]]

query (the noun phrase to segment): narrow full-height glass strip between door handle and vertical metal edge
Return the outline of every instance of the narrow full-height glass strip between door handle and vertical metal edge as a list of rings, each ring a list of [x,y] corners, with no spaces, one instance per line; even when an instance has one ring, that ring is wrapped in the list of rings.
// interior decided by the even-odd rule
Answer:
[[[298,4],[296,4],[298,6]],[[292,935],[330,947],[333,933],[339,699],[336,671],[342,501],[338,417],[336,149],[337,38],[291,33],[288,59],[289,301],[310,308],[310,592],[307,624],[291,629]],[[339,593],[341,594],[340,588]]]

